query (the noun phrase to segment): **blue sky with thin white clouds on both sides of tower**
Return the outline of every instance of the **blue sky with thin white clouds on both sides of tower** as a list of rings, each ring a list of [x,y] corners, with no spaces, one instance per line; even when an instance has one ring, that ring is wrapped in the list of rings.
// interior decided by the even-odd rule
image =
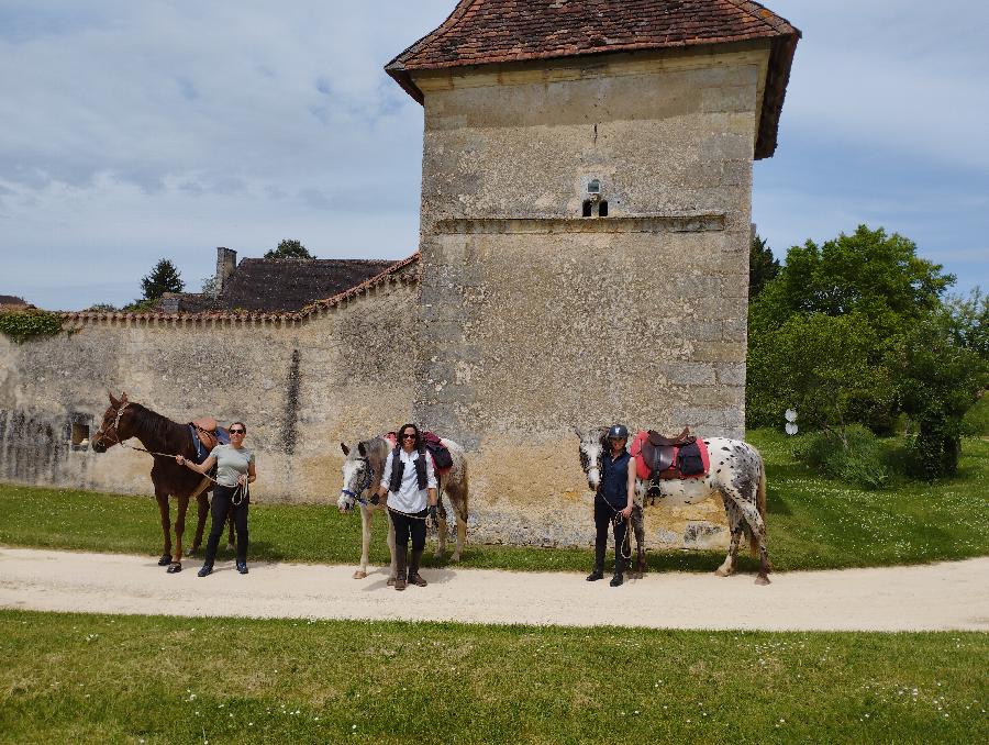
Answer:
[[[989,290],[989,3],[766,0],[803,32],[753,220],[778,258],[865,223]],[[422,108],[382,67],[455,0],[0,0],[0,294],[141,296],[216,246],[418,248]]]

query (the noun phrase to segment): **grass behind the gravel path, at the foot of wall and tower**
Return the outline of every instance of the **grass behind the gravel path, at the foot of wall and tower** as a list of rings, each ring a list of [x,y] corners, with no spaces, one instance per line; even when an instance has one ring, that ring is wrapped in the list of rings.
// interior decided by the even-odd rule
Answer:
[[[815,475],[790,456],[773,432],[749,434],[767,463],[769,553],[777,569],[888,566],[989,554],[989,442],[965,441],[960,470],[936,483],[863,491]],[[647,518],[648,519],[648,518]],[[377,521],[371,560],[387,561],[384,522]],[[587,534],[592,534],[590,518]],[[353,564],[360,520],[332,504],[255,504],[251,557]],[[191,531],[187,521],[187,545]],[[468,536],[469,540],[469,536]],[[0,485],[0,544],[157,555],[157,509],[148,497]],[[714,569],[721,553],[649,552],[653,570]],[[468,545],[464,566],[520,570],[585,570],[581,549]],[[743,570],[753,570],[747,557]]]

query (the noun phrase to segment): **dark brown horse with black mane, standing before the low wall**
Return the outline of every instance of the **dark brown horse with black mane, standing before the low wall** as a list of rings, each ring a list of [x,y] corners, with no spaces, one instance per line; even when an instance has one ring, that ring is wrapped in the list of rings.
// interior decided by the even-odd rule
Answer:
[[[191,554],[202,543],[202,530],[210,510],[207,491],[210,488],[210,479],[197,474],[190,468],[180,466],[175,462],[176,455],[182,455],[193,460],[196,448],[192,444],[192,433],[186,424],[173,422],[170,419],[158,414],[146,407],[127,401],[127,394],[120,399],[110,393],[110,407],[103,414],[100,429],[92,436],[91,446],[97,453],[105,453],[113,445],[123,445],[131,437],[136,437],[154,458],[152,465],[152,482],[155,485],[155,499],[158,502],[158,512],[162,516],[162,532],[165,534],[165,548],[158,566],[168,566],[168,574],[182,570],[182,533],[186,530],[186,511],[189,508],[189,499],[193,498],[199,503],[198,524],[196,537],[192,541]],[[171,518],[168,510],[168,496],[171,494],[178,501],[178,518],[175,521],[175,551],[171,544]]]

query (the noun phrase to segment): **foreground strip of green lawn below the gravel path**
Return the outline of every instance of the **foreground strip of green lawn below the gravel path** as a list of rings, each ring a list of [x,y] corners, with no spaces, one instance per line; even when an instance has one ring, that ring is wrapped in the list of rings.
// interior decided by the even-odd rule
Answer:
[[[976,633],[0,611],[0,654],[8,743],[989,740]]]

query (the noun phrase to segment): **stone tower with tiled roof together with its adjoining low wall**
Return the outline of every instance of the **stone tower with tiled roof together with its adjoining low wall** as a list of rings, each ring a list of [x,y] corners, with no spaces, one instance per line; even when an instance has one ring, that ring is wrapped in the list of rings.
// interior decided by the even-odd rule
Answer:
[[[743,435],[752,167],[798,38],[744,0],[463,0],[386,68],[424,108],[420,255],[300,313],[0,341],[0,478],[146,491],[147,456],[64,447],[107,388],[246,418],[271,499],[335,499],[337,442],[413,418],[468,451],[471,540],[588,544],[575,426]],[[713,501],[646,522],[726,543]]]

